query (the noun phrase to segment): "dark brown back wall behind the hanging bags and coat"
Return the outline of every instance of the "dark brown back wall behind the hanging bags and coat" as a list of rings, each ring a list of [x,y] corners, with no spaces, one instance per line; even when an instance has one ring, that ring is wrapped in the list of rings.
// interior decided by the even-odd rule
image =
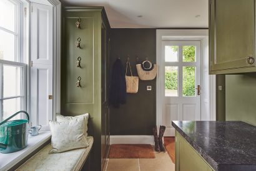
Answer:
[[[137,75],[135,67],[136,55],[140,62],[145,56],[155,63],[156,38],[155,29],[111,29],[110,66],[120,57],[126,67],[127,55],[130,55],[132,72]],[[156,119],[156,91],[155,79],[150,81],[139,80],[139,91],[136,94],[127,94],[126,104],[120,108],[110,108],[111,135],[151,135],[152,126]],[[152,91],[147,91],[147,85]]]

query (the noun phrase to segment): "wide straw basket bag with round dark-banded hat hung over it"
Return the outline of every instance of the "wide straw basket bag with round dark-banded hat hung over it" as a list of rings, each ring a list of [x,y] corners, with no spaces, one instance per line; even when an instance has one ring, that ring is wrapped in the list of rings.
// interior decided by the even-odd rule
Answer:
[[[149,68],[146,68],[144,66],[145,62],[149,63]],[[152,65],[152,63],[149,60],[145,60],[141,64],[137,64],[136,68],[140,80],[154,80],[155,76],[157,75],[157,65]]]

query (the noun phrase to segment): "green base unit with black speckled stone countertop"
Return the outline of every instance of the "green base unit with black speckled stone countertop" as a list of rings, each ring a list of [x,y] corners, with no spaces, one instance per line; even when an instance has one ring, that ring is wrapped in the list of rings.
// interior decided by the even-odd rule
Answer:
[[[256,170],[256,127],[242,121],[172,121],[175,170]]]

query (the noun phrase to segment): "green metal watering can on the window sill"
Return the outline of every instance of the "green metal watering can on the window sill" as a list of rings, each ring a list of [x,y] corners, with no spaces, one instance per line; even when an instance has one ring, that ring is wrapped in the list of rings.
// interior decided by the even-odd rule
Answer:
[[[25,113],[27,119],[9,121],[19,113]],[[29,114],[26,111],[18,111],[9,118],[0,122],[0,152],[11,153],[27,147],[27,127]]]

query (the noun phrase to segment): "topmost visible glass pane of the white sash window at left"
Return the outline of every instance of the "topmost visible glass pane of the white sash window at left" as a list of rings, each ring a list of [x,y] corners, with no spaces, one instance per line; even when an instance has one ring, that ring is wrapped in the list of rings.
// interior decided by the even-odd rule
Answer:
[[[0,26],[15,32],[16,5],[7,0],[0,1]]]

